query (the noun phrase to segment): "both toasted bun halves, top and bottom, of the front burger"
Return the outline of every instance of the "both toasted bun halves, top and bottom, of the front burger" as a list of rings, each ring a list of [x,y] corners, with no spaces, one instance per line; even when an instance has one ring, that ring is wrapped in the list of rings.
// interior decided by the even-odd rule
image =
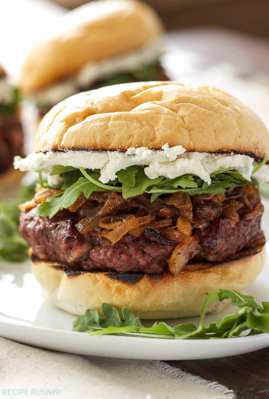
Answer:
[[[269,154],[267,130],[244,104],[218,89],[176,82],[129,83],[69,97],[45,115],[35,151],[161,149],[165,143],[182,145],[189,152],[235,152],[256,159]],[[107,302],[118,310],[126,306],[142,319],[161,319],[200,314],[204,292],[241,291],[262,269],[265,251],[261,240],[223,262],[190,261],[178,276],[168,270],[160,274],[71,270],[36,255],[32,253],[34,275],[45,298],[56,306],[79,315],[87,309],[101,311]],[[176,247],[168,265],[177,260]],[[223,307],[224,303],[212,302],[208,311]]]

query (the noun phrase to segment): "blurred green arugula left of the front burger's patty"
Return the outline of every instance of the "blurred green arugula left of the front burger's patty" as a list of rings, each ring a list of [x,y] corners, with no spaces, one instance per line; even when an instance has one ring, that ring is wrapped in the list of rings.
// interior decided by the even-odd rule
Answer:
[[[28,257],[28,245],[19,233],[18,205],[33,198],[35,186],[22,186],[16,199],[0,202],[0,259],[22,262]]]

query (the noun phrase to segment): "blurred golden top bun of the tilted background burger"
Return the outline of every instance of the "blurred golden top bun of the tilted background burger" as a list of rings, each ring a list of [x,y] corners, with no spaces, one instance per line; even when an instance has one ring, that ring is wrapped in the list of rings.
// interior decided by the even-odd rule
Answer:
[[[42,89],[76,73],[86,63],[143,46],[162,31],[157,13],[139,1],[85,4],[61,17],[56,31],[30,50],[21,70],[22,90]]]

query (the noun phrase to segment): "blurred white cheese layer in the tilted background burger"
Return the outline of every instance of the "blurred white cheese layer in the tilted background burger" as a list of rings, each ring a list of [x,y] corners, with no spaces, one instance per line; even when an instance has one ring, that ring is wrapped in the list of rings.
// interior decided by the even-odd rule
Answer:
[[[155,39],[139,49],[124,52],[105,60],[88,63],[72,78],[39,90],[34,97],[38,104],[57,104],[77,93],[78,87],[87,88],[92,83],[103,80],[119,72],[130,72],[151,64],[163,52],[161,39]]]

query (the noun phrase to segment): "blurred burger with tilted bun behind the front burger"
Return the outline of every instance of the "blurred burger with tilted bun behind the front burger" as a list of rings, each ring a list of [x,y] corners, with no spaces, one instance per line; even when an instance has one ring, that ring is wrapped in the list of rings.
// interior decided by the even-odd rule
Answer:
[[[162,22],[147,4],[92,1],[60,17],[30,50],[22,65],[22,90],[43,116],[80,91],[168,80],[159,62],[162,33]]]

